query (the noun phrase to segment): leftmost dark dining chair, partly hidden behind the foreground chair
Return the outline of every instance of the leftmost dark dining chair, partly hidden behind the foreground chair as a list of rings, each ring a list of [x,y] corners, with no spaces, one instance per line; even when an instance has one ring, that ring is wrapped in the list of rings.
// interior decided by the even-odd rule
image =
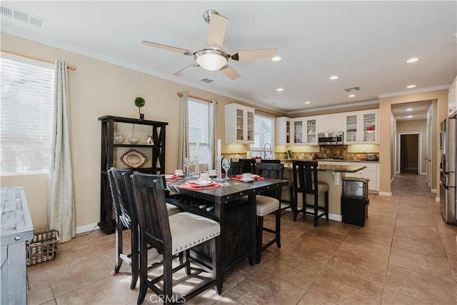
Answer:
[[[111,167],[108,170],[109,188],[116,214],[116,265],[114,266],[114,271],[111,271],[111,275],[119,273],[122,262],[125,261],[131,266],[130,289],[135,289],[136,281],[139,277],[139,224],[129,179],[131,174],[133,174],[131,169],[116,169]],[[165,183],[165,176],[154,176],[156,176],[156,179],[160,179],[161,183]],[[167,211],[169,215],[180,212],[179,208],[172,204],[167,204]],[[130,253],[124,253],[122,239],[124,227],[131,230]]]

